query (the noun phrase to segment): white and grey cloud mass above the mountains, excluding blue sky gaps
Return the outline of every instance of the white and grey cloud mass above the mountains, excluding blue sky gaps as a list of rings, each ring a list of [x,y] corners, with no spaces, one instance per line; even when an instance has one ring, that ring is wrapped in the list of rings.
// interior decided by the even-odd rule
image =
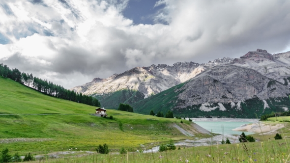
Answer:
[[[61,15],[51,9],[46,12],[55,16],[44,20],[41,19],[45,16],[37,17],[48,22],[51,28],[34,22],[21,24],[13,30],[16,38],[33,33],[48,36],[45,38],[51,41],[44,41],[47,43],[45,46],[53,49],[55,57],[24,56],[19,52],[0,62],[40,76],[50,74],[47,77],[54,82],[68,82],[68,85],[75,86],[82,84],[78,82],[78,76],[84,79],[107,78],[134,66],[177,61],[205,63],[219,57],[239,57],[258,48],[269,53],[281,52],[290,45],[290,1],[162,1],[166,7],[158,12],[155,20],[163,24],[137,26],[124,23],[128,21],[121,14],[125,0],[119,7],[116,0],[107,1],[102,8],[104,11],[100,11],[96,4],[87,6],[92,13],[87,17],[83,16],[85,14],[78,5],[71,4],[72,1],[59,0],[59,4],[70,9],[71,14]],[[35,4],[40,2],[43,1],[34,0]],[[98,1],[98,5],[100,3]],[[110,6],[115,7],[110,8],[114,12],[107,16]],[[97,11],[104,13],[97,15]],[[99,17],[103,18],[97,19]],[[110,20],[112,17],[116,19]],[[86,20],[89,20],[88,24],[81,28]],[[0,43],[1,38],[0,34]],[[37,59],[52,64],[43,64]]]

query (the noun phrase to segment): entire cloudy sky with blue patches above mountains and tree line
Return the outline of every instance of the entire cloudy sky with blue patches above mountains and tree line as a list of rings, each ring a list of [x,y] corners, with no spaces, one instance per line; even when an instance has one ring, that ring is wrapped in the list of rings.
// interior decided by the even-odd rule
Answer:
[[[71,88],[137,66],[290,51],[290,0],[0,0],[0,63]]]

